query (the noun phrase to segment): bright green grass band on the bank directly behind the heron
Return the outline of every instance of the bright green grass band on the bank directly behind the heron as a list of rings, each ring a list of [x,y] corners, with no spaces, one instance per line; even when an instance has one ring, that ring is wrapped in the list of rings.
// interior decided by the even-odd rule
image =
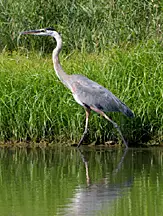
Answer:
[[[163,53],[149,41],[105,53],[62,54],[69,74],[83,74],[108,88],[135,113],[134,119],[109,114],[130,144],[162,142]],[[76,142],[84,130],[84,109],[53,71],[51,55],[13,52],[0,55],[0,141]],[[112,125],[92,113],[87,142],[116,139]],[[153,143],[153,142],[152,142]]]

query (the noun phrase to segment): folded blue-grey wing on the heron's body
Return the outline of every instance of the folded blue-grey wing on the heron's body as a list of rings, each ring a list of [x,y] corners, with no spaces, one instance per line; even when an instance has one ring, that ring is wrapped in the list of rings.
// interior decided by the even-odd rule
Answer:
[[[78,101],[102,111],[123,112],[124,104],[108,89],[87,77],[76,75],[72,83],[73,94]]]

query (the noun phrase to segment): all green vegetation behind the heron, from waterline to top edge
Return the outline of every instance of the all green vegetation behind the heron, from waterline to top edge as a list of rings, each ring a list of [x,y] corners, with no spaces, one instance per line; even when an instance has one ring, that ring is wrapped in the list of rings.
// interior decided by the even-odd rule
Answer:
[[[51,53],[54,41],[19,37],[22,30],[53,25],[63,35],[65,71],[97,81],[134,111],[133,120],[111,114],[127,140],[161,141],[162,7],[152,0],[2,1],[0,140],[77,141],[83,132],[83,109],[55,76],[51,54],[42,57]],[[117,137],[112,125],[97,115],[89,127],[89,141]]]

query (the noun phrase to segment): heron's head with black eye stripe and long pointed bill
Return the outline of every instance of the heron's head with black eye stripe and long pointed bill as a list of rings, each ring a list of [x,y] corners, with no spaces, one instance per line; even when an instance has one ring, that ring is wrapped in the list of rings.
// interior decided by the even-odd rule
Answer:
[[[37,30],[29,30],[21,32],[20,34],[30,34],[30,35],[41,35],[41,36],[52,36],[56,38],[59,36],[59,33],[54,30],[54,28],[45,28],[45,29],[37,29]]]

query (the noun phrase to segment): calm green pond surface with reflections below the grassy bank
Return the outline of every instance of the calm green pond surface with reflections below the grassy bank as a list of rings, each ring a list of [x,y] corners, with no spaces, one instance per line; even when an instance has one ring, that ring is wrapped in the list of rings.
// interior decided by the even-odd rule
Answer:
[[[163,215],[163,149],[0,151],[0,215]]]

